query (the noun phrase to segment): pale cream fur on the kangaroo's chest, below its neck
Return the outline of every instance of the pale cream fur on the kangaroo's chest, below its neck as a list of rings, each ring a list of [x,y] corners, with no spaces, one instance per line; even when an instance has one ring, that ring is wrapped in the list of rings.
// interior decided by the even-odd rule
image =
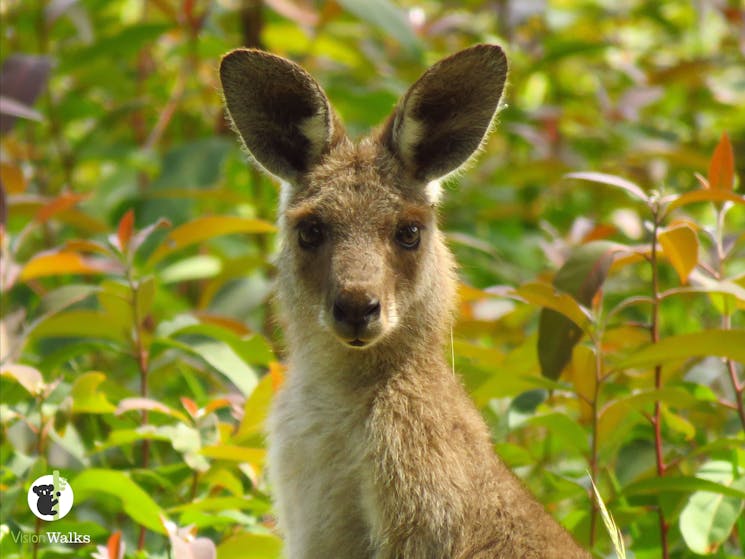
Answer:
[[[291,371],[268,422],[269,475],[286,553],[368,557],[368,406],[338,386],[309,381],[313,376]]]

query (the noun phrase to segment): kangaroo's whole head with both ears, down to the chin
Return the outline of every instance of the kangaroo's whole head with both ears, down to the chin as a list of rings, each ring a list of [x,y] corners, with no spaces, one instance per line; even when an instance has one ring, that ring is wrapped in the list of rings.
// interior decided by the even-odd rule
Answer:
[[[432,66],[379,131],[353,143],[293,62],[247,49],[222,59],[233,126],[282,181],[277,295],[288,339],[365,349],[448,327],[454,282],[437,228],[438,181],[487,136],[506,72],[498,46],[461,51]]]

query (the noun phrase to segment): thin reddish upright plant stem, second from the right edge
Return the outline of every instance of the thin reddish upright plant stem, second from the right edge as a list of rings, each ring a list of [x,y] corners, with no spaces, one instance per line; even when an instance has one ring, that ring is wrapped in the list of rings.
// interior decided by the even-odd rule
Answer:
[[[659,286],[659,274],[658,274],[658,261],[657,261],[657,232],[660,227],[660,215],[659,209],[653,208],[654,215],[654,228],[652,229],[652,254],[650,257],[650,263],[652,265],[652,320],[651,320],[651,337],[652,343],[656,344],[660,341],[660,286]],[[662,388],[662,365],[655,365],[654,368],[654,387],[656,390]],[[654,417],[652,419],[652,425],[654,426],[654,447],[655,456],[657,461],[657,475],[662,477],[665,475],[665,458],[662,449],[662,402],[655,400],[654,403]],[[667,520],[665,520],[665,513],[660,506],[657,510],[660,518],[660,547],[662,548],[662,558],[668,559],[669,551],[667,544],[667,531],[670,528]]]

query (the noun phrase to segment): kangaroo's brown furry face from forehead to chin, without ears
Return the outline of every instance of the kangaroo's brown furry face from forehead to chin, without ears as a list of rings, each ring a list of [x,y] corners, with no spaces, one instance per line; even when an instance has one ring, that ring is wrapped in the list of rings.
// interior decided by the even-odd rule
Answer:
[[[419,298],[436,231],[432,202],[391,176],[380,146],[345,144],[285,209],[280,262],[298,278],[322,328],[367,348]]]

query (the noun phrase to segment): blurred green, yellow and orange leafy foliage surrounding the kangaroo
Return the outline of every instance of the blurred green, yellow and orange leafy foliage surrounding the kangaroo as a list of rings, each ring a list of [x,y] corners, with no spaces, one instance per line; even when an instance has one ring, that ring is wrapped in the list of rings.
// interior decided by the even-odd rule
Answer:
[[[283,375],[267,304],[277,188],[226,127],[219,57],[298,61],[360,135],[477,42],[508,51],[507,105],[442,217],[464,282],[455,362],[496,449],[597,556],[612,551],[588,469],[628,556],[745,554],[739,2],[0,10],[3,557],[210,557],[211,542],[221,558],[279,556],[261,435]],[[622,254],[607,280],[598,240]],[[570,254],[577,277],[555,283],[583,307],[546,289]],[[537,332],[580,330],[542,306],[585,315],[573,356],[544,352],[546,376]],[[53,469],[76,495],[54,529],[90,545],[17,541],[49,528],[25,499]]]

